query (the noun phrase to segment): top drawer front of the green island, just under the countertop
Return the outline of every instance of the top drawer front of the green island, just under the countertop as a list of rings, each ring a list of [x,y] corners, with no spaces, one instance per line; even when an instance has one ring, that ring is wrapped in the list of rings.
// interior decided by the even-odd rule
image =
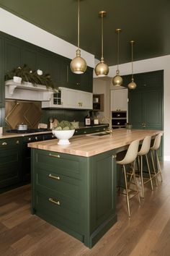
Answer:
[[[81,179],[82,166],[86,163],[86,159],[80,156],[46,150],[36,150],[35,159],[37,169],[53,171],[53,174],[62,174],[76,179]]]

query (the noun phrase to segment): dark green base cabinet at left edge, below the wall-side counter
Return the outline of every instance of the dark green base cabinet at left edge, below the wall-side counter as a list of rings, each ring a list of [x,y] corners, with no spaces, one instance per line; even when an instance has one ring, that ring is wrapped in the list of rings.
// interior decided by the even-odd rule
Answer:
[[[22,181],[22,138],[0,140],[0,192]]]

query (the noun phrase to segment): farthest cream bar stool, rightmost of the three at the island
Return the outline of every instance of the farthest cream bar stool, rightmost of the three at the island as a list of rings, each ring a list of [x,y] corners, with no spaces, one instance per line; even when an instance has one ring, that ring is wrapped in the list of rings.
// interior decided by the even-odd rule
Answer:
[[[155,177],[155,179],[156,179],[156,186],[158,186],[158,179],[157,179],[158,175],[160,175],[161,182],[162,182],[161,166],[160,166],[160,162],[158,159],[158,151],[157,151],[161,144],[162,135],[163,135],[162,133],[159,133],[158,135],[156,135],[155,140],[153,142],[153,146],[150,148],[151,159],[152,159],[152,164],[153,164],[153,172],[154,172],[153,177]],[[155,159],[153,159],[153,153],[155,153]],[[156,167],[157,167],[157,170],[156,170]]]

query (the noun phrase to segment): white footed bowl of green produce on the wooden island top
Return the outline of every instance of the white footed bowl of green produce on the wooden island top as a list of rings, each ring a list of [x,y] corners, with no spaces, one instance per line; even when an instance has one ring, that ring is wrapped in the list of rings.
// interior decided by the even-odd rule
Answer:
[[[70,121],[61,121],[53,127],[53,135],[59,139],[58,145],[68,145],[69,140],[75,132],[73,125]]]

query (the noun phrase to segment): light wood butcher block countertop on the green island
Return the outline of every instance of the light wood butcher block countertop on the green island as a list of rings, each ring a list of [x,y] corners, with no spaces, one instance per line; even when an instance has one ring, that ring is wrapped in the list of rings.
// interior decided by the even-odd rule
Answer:
[[[32,142],[28,144],[28,147],[89,157],[109,150],[124,148],[133,140],[143,140],[147,135],[154,137],[160,132],[163,133],[160,130],[115,129],[112,135],[97,136],[90,134],[73,136],[69,139],[70,145],[58,145],[58,139],[56,139]]]

